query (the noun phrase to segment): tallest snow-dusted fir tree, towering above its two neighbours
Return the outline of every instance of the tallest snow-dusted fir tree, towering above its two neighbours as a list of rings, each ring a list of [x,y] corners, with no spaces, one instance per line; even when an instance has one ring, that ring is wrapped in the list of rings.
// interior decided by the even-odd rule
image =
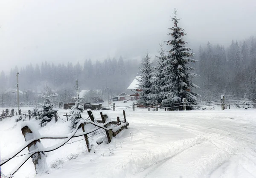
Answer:
[[[161,87],[160,96],[164,99],[163,104],[180,103],[183,99],[188,102],[196,102],[197,95],[192,92],[192,88],[198,86],[191,82],[191,78],[197,77],[195,73],[189,72],[194,68],[187,66],[190,62],[196,60],[192,57],[194,53],[189,52],[191,49],[186,47],[188,42],[183,40],[183,36],[186,35],[184,29],[178,26],[180,19],[177,18],[177,10],[174,11],[174,17],[172,21],[174,26],[169,28],[172,32],[168,35],[172,36],[171,40],[166,41],[167,45],[172,46],[172,49],[168,51],[163,62],[163,86]]]

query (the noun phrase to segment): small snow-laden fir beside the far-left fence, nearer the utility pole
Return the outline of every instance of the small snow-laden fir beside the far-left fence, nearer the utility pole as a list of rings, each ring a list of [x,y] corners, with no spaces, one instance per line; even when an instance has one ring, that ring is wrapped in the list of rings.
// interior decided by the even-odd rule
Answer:
[[[45,126],[48,122],[52,121],[54,115],[53,104],[51,103],[50,88],[46,85],[45,95],[43,96],[44,104],[40,111],[41,126]]]

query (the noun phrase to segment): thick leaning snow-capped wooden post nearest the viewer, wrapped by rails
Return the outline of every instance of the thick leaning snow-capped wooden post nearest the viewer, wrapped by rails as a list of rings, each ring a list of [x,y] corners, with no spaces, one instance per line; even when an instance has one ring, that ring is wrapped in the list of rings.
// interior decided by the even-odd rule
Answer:
[[[33,130],[32,132],[29,126],[23,126],[21,128],[21,132],[25,138],[25,141],[29,141],[33,139],[34,135],[39,135],[39,133],[33,133],[38,131]],[[40,145],[41,145],[40,139],[33,141],[31,144],[28,145],[29,152],[38,150],[38,146],[40,148]],[[49,170],[47,166],[47,162],[45,160],[44,152],[42,152],[41,150],[38,150],[38,153],[35,153],[35,155],[32,155],[31,158],[32,158],[33,164],[35,165],[35,171],[37,174],[41,174],[42,172],[47,172]]]

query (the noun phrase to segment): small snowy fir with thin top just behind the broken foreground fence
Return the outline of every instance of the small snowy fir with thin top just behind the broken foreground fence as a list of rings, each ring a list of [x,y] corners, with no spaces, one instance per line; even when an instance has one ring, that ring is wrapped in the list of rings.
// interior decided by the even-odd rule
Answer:
[[[71,108],[71,116],[70,116],[70,123],[71,127],[74,129],[77,126],[77,123],[81,121],[81,113],[84,111],[83,101],[81,98],[79,98],[79,87],[78,87],[78,81],[76,80],[76,93],[77,96],[74,97],[76,102],[75,105]]]

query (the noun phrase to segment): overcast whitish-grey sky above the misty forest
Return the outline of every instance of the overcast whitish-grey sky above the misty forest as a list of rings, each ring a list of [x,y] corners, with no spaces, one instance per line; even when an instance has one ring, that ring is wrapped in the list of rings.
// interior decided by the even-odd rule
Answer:
[[[0,0],[0,71],[156,54],[175,8],[195,51],[256,35],[256,0]]]

